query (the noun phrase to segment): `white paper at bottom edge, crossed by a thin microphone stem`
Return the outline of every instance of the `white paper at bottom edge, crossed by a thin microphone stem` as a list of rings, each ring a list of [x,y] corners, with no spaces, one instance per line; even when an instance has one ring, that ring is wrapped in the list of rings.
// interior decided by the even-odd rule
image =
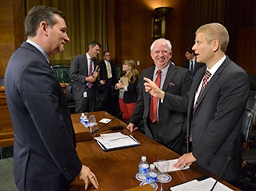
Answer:
[[[194,179],[193,181],[188,181],[186,183],[183,183],[181,185],[175,185],[173,187],[170,187],[171,191],[204,191],[204,190],[210,190],[214,183],[215,179],[212,177],[206,178],[202,181],[198,181]],[[230,189],[226,185],[223,185],[221,182],[218,182],[217,185],[214,187],[214,191],[231,191],[233,189]]]

